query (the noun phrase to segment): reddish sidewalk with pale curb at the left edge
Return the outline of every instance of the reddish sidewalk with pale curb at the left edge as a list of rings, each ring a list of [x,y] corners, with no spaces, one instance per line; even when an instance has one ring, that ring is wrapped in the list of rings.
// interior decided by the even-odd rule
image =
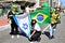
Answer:
[[[10,28],[10,24],[8,22],[6,15],[0,17],[0,31]]]

